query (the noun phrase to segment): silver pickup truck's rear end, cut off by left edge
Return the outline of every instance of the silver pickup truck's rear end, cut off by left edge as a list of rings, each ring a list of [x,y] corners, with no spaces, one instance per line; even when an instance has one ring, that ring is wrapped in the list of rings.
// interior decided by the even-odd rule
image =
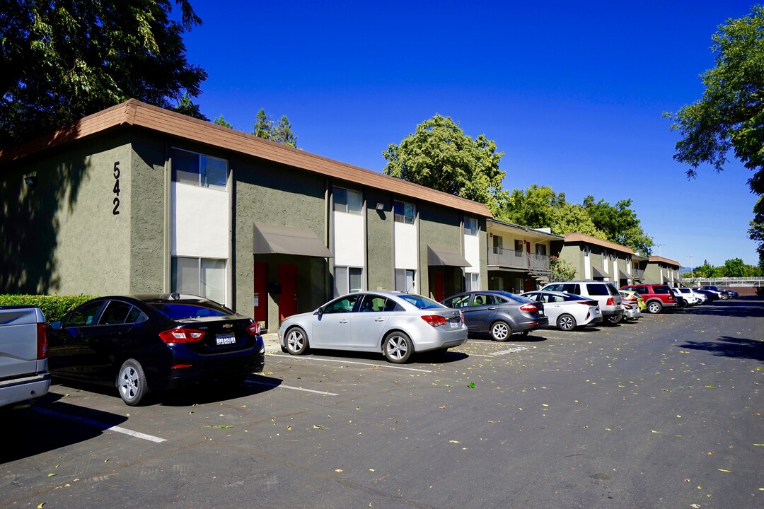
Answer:
[[[0,407],[47,394],[47,333],[37,306],[0,306]]]

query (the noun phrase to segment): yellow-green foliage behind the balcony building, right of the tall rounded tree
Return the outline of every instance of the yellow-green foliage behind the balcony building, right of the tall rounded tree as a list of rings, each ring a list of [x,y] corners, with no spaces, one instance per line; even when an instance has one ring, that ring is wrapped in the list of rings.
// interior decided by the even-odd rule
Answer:
[[[524,191],[515,189],[497,217],[530,228],[550,228],[556,235],[578,232],[607,240],[607,235],[597,229],[586,209],[568,203],[564,192],[555,193],[549,185],[533,184]]]

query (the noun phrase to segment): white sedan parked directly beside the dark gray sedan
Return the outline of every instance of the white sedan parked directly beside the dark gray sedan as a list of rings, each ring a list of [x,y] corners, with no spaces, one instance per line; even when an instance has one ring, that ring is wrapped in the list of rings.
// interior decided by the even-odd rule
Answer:
[[[544,312],[549,317],[549,325],[560,330],[574,330],[576,327],[597,324],[602,321],[600,303],[596,299],[572,295],[565,292],[537,290],[520,295],[534,302],[544,303]]]

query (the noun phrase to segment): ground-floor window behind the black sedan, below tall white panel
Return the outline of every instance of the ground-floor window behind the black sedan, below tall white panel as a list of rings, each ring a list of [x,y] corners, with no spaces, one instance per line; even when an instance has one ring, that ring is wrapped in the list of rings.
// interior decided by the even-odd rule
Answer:
[[[225,304],[225,259],[173,256],[170,291]]]

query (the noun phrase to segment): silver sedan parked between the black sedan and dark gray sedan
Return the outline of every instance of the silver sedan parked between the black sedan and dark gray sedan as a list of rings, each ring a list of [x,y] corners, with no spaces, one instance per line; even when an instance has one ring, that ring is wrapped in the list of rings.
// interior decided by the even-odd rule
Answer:
[[[401,292],[344,295],[287,317],[279,327],[281,350],[293,355],[309,348],[377,352],[397,364],[416,352],[445,352],[466,340],[461,311]]]

